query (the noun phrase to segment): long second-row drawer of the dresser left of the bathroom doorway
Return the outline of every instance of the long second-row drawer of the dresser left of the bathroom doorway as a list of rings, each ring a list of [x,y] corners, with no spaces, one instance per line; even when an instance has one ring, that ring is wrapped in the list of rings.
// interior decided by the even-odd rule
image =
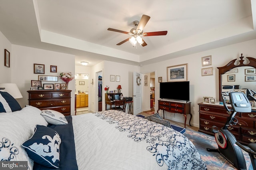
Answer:
[[[70,105],[69,99],[52,99],[52,100],[30,100],[29,105],[34,107],[51,107],[51,106],[62,106]]]

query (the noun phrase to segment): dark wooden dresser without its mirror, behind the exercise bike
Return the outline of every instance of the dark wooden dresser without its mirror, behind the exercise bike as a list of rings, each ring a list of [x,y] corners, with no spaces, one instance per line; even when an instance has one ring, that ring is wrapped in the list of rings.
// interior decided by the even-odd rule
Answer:
[[[224,127],[230,113],[222,105],[198,103],[199,105],[199,132],[214,135],[212,126],[219,129]],[[231,107],[230,107],[231,108]],[[228,127],[236,140],[243,144],[256,143],[256,113],[236,113],[237,125]]]

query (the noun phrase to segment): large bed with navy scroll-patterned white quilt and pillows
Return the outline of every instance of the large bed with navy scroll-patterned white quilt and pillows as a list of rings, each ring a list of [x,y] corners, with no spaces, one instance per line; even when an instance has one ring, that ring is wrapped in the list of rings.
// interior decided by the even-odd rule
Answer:
[[[207,169],[194,144],[164,125],[115,110],[64,117],[29,105],[0,113],[0,160],[28,161],[31,170]]]

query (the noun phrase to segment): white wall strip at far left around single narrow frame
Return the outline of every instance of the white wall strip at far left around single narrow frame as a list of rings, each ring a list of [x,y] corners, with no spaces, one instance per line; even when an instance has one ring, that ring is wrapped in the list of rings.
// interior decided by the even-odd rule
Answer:
[[[4,66],[4,49],[7,49],[10,52],[10,68]],[[1,79],[0,83],[12,83],[11,73],[12,73],[12,44],[7,40],[7,38],[0,32],[0,73]]]

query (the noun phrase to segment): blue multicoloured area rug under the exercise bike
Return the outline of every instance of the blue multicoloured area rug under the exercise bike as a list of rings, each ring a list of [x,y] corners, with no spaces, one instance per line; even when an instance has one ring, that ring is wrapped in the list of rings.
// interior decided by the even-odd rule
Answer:
[[[230,164],[225,158],[223,158],[218,152],[207,152],[206,148],[217,148],[217,144],[214,136],[210,136],[201,132],[192,130],[186,130],[184,135],[190,139],[196,146],[198,152],[201,155],[202,160],[207,166],[208,170],[236,170],[232,164]],[[244,158],[246,160],[247,170],[253,170],[250,161],[250,156],[244,152]]]

